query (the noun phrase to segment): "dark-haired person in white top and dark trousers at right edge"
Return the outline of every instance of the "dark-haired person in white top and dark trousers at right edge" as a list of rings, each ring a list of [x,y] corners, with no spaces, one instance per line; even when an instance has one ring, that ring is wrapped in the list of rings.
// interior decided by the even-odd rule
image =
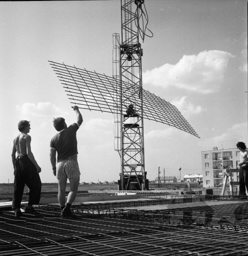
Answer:
[[[246,196],[246,188],[248,190],[248,151],[244,142],[238,142],[237,148],[239,152],[239,195]]]

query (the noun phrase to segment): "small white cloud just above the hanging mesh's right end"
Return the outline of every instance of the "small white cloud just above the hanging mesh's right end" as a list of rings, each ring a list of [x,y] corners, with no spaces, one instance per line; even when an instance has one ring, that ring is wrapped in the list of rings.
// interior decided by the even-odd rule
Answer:
[[[206,111],[201,106],[195,107],[191,101],[186,101],[187,96],[177,97],[171,101],[171,104],[178,108],[185,118],[191,115],[199,114],[202,111]]]

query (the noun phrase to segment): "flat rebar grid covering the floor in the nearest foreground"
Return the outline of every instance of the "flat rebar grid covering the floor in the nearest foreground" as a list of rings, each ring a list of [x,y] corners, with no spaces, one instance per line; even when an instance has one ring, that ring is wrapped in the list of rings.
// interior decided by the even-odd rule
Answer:
[[[0,215],[1,256],[248,254],[248,238],[244,232],[190,225],[176,227],[80,213],[77,215],[86,217],[61,219],[59,212],[48,208],[40,211],[42,217],[35,219],[27,215],[15,220],[13,212]]]

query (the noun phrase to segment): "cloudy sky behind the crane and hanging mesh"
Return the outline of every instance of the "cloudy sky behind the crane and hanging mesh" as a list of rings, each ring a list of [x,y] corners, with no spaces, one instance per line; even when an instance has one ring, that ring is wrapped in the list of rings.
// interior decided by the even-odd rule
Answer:
[[[145,171],[199,174],[201,151],[248,144],[247,0],[145,0],[143,88],[175,105],[200,138],[144,120]],[[112,34],[121,32],[120,0],[0,2],[0,183],[14,181],[11,151],[20,120],[31,121],[31,148],[42,182],[50,163],[52,119],[76,121],[48,61],[112,75]],[[117,181],[114,117],[81,110],[80,182]]]

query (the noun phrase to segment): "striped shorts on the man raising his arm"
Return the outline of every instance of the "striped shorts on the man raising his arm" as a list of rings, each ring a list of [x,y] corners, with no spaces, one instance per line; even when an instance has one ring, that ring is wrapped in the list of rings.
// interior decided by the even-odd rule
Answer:
[[[57,179],[77,178],[80,176],[79,166],[75,160],[59,160],[56,169]]]

